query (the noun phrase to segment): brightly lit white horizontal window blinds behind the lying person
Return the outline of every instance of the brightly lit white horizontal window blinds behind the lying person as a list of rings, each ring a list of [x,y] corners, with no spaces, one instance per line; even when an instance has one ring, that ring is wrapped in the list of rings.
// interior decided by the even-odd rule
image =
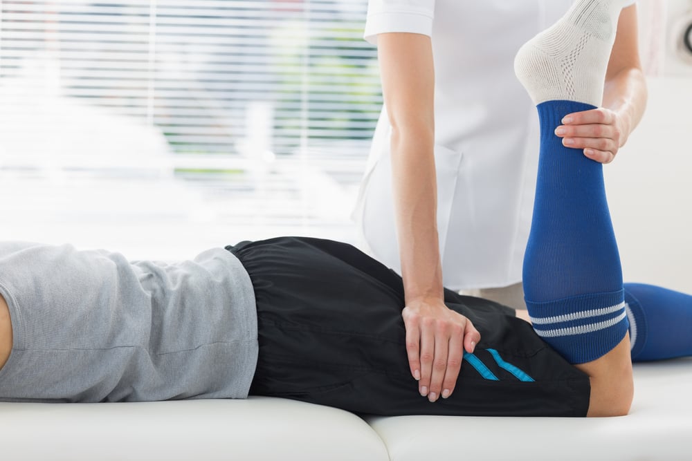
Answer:
[[[0,189],[14,189],[0,190],[0,211],[64,216],[84,191],[111,187],[73,220],[259,223],[248,230],[350,240],[381,108],[366,8],[1,0]],[[78,197],[39,205],[80,184]],[[118,198],[126,188],[132,196]],[[152,190],[167,205],[142,208]],[[173,211],[190,197],[192,210]]]

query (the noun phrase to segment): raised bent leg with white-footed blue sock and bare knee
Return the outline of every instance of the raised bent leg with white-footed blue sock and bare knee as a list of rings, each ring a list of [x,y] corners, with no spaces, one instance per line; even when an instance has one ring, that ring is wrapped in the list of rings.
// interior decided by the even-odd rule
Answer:
[[[534,329],[591,378],[589,415],[623,415],[632,369],[622,272],[603,167],[563,147],[569,113],[601,104],[621,0],[578,0],[519,50],[515,69],[538,108],[540,156],[524,290]]]

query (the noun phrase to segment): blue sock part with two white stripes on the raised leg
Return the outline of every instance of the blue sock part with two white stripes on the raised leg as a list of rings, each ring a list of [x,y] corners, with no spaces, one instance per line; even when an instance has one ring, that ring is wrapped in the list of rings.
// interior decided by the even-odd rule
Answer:
[[[523,269],[534,330],[572,364],[601,357],[628,330],[603,167],[554,134],[565,115],[588,109],[594,106],[538,105],[536,200]]]

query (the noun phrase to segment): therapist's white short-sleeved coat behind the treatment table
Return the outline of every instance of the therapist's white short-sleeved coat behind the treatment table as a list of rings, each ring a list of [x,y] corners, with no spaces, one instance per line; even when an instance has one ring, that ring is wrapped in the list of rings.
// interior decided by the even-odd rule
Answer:
[[[365,39],[432,37],[437,229],[444,285],[502,287],[522,278],[538,165],[536,108],[513,71],[525,41],[572,0],[370,0]],[[354,218],[361,247],[401,272],[390,123],[376,127]]]

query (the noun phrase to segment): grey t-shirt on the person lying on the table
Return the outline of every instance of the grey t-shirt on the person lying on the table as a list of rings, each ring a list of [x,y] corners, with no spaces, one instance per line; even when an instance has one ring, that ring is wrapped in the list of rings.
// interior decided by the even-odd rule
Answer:
[[[217,248],[127,261],[71,245],[0,243],[12,319],[0,400],[244,398],[257,364],[248,273]]]

